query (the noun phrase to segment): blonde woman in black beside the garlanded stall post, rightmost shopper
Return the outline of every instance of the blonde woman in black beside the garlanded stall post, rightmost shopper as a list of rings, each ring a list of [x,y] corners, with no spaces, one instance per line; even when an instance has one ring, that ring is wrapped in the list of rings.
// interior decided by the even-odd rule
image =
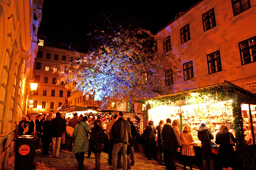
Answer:
[[[219,160],[222,165],[222,170],[232,170],[236,163],[236,156],[233,146],[230,145],[230,138],[236,143],[233,134],[229,132],[229,127],[222,124],[219,127],[219,132],[216,134],[216,144],[219,145]]]

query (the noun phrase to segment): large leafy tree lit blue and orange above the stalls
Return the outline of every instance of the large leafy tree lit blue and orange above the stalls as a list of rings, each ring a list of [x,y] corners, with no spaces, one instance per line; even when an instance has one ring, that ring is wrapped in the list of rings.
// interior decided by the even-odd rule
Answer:
[[[133,104],[137,99],[166,94],[165,72],[173,69],[176,75],[175,58],[157,52],[156,37],[150,31],[119,28],[97,33],[98,50],[86,56],[76,52],[71,62],[61,64],[59,82],[103,102],[114,99]]]

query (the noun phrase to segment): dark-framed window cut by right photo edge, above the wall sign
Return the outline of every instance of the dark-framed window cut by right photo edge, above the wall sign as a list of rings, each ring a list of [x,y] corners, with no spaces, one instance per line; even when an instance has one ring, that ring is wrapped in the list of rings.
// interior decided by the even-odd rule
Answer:
[[[244,40],[239,44],[241,62],[248,64],[256,61],[256,36]]]

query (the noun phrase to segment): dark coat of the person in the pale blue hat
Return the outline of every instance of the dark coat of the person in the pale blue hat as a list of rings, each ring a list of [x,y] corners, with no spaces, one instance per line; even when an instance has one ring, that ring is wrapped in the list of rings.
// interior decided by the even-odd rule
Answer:
[[[197,133],[197,137],[201,141],[201,151],[203,159],[210,160],[214,159],[215,157],[210,152],[211,148],[207,133],[209,134],[210,139],[214,139],[211,130],[208,129],[206,126],[200,127]]]

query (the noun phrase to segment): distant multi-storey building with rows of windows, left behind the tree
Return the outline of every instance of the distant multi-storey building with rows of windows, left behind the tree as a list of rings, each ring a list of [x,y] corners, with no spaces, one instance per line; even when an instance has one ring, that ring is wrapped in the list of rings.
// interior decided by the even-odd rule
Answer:
[[[43,42],[41,39],[40,41]],[[71,90],[67,90],[64,83],[57,83],[59,78],[57,73],[59,68],[57,66],[60,63],[68,63],[71,54],[74,53],[71,50],[47,47],[43,44],[39,46],[33,70],[34,82],[38,83],[38,88],[32,96],[31,112],[49,112],[50,110],[56,110],[61,105],[63,107],[68,106],[67,97],[71,95]],[[80,55],[87,54],[80,53]]]

